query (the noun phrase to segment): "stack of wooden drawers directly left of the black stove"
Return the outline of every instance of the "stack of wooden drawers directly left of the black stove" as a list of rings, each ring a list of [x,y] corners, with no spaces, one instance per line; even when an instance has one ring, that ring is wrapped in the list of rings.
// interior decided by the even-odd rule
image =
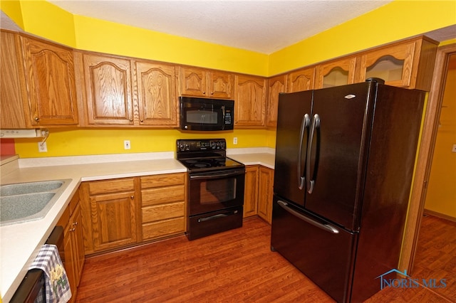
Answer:
[[[142,240],[184,233],[187,175],[141,177]]]

